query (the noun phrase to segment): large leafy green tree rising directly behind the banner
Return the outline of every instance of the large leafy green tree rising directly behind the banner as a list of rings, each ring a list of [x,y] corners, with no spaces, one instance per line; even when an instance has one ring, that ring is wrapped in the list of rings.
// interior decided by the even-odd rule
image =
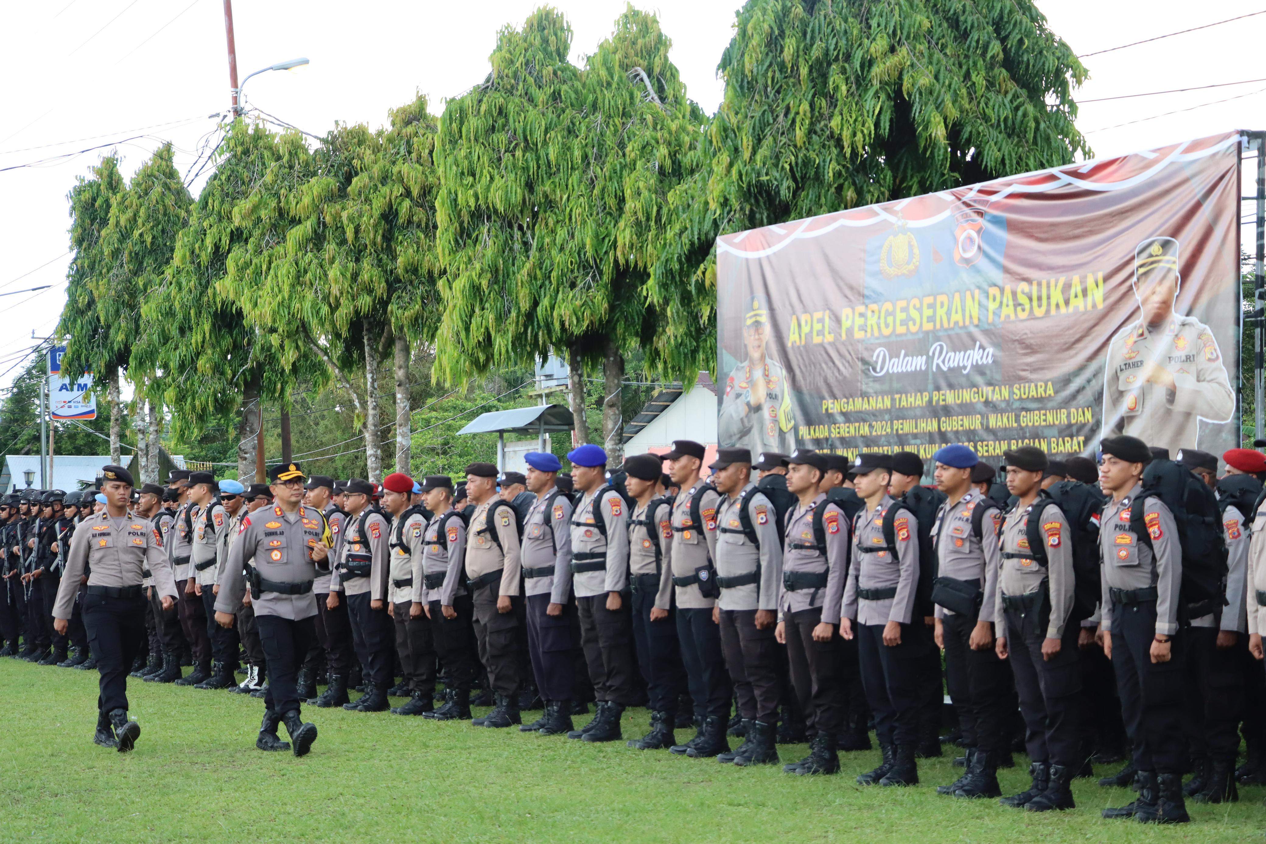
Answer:
[[[648,286],[647,353],[682,372],[717,357],[717,235],[1089,154],[1086,71],[1032,0],[748,0],[718,70]]]

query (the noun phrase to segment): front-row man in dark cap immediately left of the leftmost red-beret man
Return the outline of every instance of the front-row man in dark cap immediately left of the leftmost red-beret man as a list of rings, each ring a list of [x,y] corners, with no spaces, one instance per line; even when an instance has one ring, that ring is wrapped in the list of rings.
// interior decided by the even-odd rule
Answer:
[[[370,688],[363,697],[343,709],[357,712],[381,712],[387,709],[387,688],[391,686],[395,630],[387,616],[387,525],[386,516],[371,506],[373,485],[361,478],[347,482],[343,496],[348,516],[343,523],[343,553],[339,566],[329,581],[330,595],[343,590],[347,597],[347,615],[352,626],[352,642],[361,659],[365,682]]]

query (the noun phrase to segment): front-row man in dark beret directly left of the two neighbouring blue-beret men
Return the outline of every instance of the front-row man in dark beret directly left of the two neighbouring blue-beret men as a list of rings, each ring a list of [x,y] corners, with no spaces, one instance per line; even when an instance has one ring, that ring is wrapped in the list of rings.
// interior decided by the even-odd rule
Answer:
[[[515,511],[496,495],[496,467],[471,463],[466,467],[466,492],[475,506],[466,534],[466,572],[475,609],[475,636],[479,655],[487,669],[489,688],[496,701],[486,717],[475,726],[506,728],[522,724],[519,715],[518,617],[514,604],[520,601],[519,528]]]

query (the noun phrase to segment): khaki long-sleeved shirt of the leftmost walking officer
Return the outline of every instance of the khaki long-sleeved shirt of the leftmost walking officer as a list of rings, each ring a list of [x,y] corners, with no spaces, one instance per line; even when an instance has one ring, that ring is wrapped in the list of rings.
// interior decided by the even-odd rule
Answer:
[[[54,619],[70,619],[85,567],[91,568],[89,586],[141,586],[144,569],[154,578],[158,596],[176,599],[176,581],[153,528],[128,512],[115,519],[108,511],[85,519],[75,528],[66,572],[57,587]]]

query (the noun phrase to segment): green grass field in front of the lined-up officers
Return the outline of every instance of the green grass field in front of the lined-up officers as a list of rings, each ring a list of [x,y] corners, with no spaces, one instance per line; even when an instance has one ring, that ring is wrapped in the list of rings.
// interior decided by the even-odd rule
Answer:
[[[774,766],[315,707],[305,717],[320,738],[296,759],[254,749],[262,701],[139,681],[129,696],[143,734],[120,754],[91,740],[95,672],[0,659],[0,839],[1266,840],[1261,787],[1229,806],[1189,804],[1194,822],[1155,828],[1101,820],[1100,809],[1132,795],[1091,781],[1076,782],[1076,810],[1043,815],[938,796],[934,786],[957,776],[948,755],[920,762],[915,788],[862,788],[853,777],[877,764],[877,752],[842,754],[841,776],[795,777]],[[625,738],[642,735],[647,717],[627,712]],[[780,753],[799,759],[805,748]],[[1004,790],[1023,786],[1020,767],[1003,772]]]

